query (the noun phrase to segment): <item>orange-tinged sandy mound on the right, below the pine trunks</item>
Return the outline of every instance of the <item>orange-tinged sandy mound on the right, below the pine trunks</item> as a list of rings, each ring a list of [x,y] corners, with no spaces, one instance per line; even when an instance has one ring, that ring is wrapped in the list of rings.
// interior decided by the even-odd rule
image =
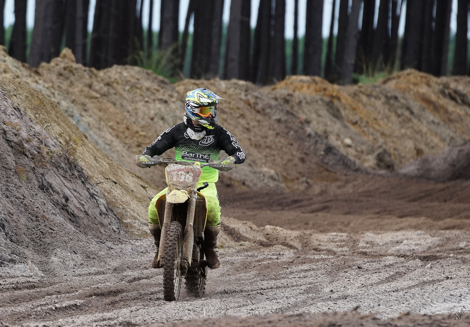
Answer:
[[[398,170],[470,138],[468,80],[406,70],[367,86],[291,76],[262,90],[358,163]]]

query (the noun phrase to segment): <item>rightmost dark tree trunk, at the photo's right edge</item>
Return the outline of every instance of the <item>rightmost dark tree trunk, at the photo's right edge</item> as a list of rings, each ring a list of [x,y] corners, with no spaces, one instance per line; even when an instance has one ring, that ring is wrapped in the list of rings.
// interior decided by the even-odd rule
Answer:
[[[454,75],[467,74],[467,31],[468,31],[468,0],[458,0],[457,32],[455,34]]]

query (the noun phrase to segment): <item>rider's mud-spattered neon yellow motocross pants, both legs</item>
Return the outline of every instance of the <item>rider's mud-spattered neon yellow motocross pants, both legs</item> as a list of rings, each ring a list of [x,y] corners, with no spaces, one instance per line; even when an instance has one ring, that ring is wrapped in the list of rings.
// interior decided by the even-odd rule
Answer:
[[[197,187],[203,187],[203,184],[198,184]],[[160,191],[155,197],[150,201],[149,205],[149,222],[150,224],[159,224],[157,208],[155,203],[160,196],[166,193],[168,188]],[[209,183],[207,187],[200,191],[202,195],[205,196],[207,200],[207,221],[208,226],[215,226],[220,224],[220,206],[219,206],[219,196],[217,195],[217,188],[215,183]]]

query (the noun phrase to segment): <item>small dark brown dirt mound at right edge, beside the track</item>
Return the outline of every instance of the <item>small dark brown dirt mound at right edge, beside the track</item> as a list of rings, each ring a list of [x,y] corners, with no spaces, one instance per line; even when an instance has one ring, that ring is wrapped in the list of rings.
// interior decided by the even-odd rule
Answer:
[[[424,156],[408,163],[400,173],[435,181],[470,179],[470,142],[462,147],[447,148],[441,155]]]

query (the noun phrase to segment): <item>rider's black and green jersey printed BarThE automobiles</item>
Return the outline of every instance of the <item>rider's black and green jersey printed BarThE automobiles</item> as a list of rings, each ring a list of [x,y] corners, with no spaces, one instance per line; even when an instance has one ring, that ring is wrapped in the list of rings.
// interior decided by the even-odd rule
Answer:
[[[175,148],[176,160],[199,161],[208,163],[210,159],[219,160],[220,150],[235,158],[235,163],[243,163],[245,151],[238,145],[235,137],[220,125],[214,129],[196,127],[185,117],[185,121],[174,125],[158,136],[142,155],[161,156],[166,150]],[[203,167],[200,183],[216,182],[219,171]]]

